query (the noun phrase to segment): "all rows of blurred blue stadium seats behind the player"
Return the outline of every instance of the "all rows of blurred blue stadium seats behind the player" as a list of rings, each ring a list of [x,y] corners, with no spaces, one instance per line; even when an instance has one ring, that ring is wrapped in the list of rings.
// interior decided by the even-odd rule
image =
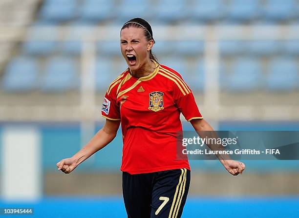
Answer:
[[[210,21],[219,21],[220,24],[221,21],[249,21],[253,25],[252,34],[254,34],[257,40],[224,39],[219,41],[219,54],[221,56],[225,56],[225,59],[235,58],[230,56],[248,55],[246,60],[237,59],[237,61],[233,64],[231,74],[225,74],[225,71],[221,70],[222,68],[220,66],[219,77],[221,81],[221,88],[228,88],[231,91],[250,91],[257,88],[255,86],[257,83],[254,84],[252,81],[261,76],[260,66],[255,59],[256,57],[268,59],[277,55],[285,55],[295,59],[299,58],[299,40],[294,39],[284,41],[268,40],[267,38],[259,39],[260,29],[256,28],[258,26],[255,25],[258,24],[259,20],[293,22],[295,18],[299,17],[299,7],[296,5],[296,2],[296,0],[155,0],[154,4],[152,4],[149,0],[140,0],[138,1],[138,4],[136,4],[136,1],[134,0],[44,0],[36,23],[32,25],[30,32],[26,35],[26,40],[21,44],[21,55],[35,57],[43,56],[42,58],[44,58],[48,63],[46,65],[47,73],[42,75],[44,78],[43,85],[41,85],[41,87],[44,87],[44,91],[64,91],[71,89],[69,84],[69,80],[71,79],[67,79],[67,77],[75,77],[79,79],[77,76],[77,72],[79,70],[78,66],[73,63],[67,63],[66,65],[68,65],[68,68],[72,69],[70,70],[72,72],[70,74],[72,75],[68,75],[68,73],[65,75],[61,74],[65,76],[65,78],[62,79],[65,80],[65,82],[62,82],[61,85],[58,85],[59,83],[57,83],[57,86],[61,86],[60,88],[53,88],[55,87],[55,85],[53,85],[55,82],[52,82],[52,85],[44,85],[44,82],[46,82],[45,78],[49,77],[54,81],[55,76],[51,75],[58,75],[48,72],[51,68],[49,62],[52,63],[53,60],[51,58],[53,55],[61,55],[64,57],[69,56],[69,58],[74,59],[78,58],[76,56],[81,55],[83,42],[71,38],[72,36],[78,36],[79,38],[83,36],[90,36],[92,33],[89,31],[91,29],[89,28],[89,25],[94,27],[97,22],[103,21],[101,25],[103,24],[104,26],[108,26],[111,23],[113,24],[113,22],[121,21],[121,23],[124,23],[132,17],[143,17],[146,20],[149,19],[151,24],[154,23],[153,27],[155,25],[165,25],[165,22],[167,23],[166,25],[176,24],[175,22],[177,21],[177,24],[179,25],[183,23],[182,26],[184,26],[184,23],[192,25],[194,24],[194,21],[196,21],[196,24],[206,24]],[[150,12],[150,14],[148,12]],[[70,21],[70,23],[62,23],[65,21]],[[104,21],[107,21],[107,24]],[[38,28],[35,28],[43,25],[51,27],[49,24],[53,23],[67,25],[67,31],[64,32],[63,40],[60,40],[59,42],[55,41],[58,37],[58,32],[53,31],[53,29],[43,29],[41,31]],[[119,25],[119,23],[116,24]],[[109,34],[114,35],[115,33]],[[273,35],[275,34],[276,33],[273,33]],[[54,40],[39,40],[48,38],[53,38]],[[97,55],[105,57],[105,60],[103,60],[103,58],[98,59],[96,75],[100,75],[99,72],[103,69],[105,72],[115,72],[115,75],[113,76],[109,73],[107,77],[101,76],[100,80],[96,80],[97,87],[101,87],[98,88],[98,90],[104,90],[106,88],[103,87],[107,87],[106,83],[109,83],[109,81],[124,70],[126,66],[125,64],[122,65],[118,63],[118,60],[122,58],[119,40],[104,40],[96,42],[96,52]],[[198,56],[200,57],[204,53],[204,41],[158,40],[153,47],[153,53],[157,55],[159,60],[160,58],[163,60],[163,58],[170,59],[171,57],[171,59],[181,59],[181,57],[183,57],[183,60],[179,61],[181,63],[178,63],[178,61],[170,61],[170,66],[177,68],[178,72],[183,74],[184,78],[187,79],[188,84],[190,84],[193,89],[198,91],[202,90],[204,84],[200,82],[204,81],[201,79],[204,77],[203,64],[201,61],[195,63],[197,60],[194,60],[194,58],[198,58]],[[67,62],[73,62],[74,59],[67,59]],[[239,60],[241,61],[240,63],[238,63]],[[108,68],[107,63],[112,64],[113,69],[111,69],[111,67]],[[162,61],[161,63],[163,64],[164,62]],[[190,66],[189,63],[191,63],[192,66]],[[56,64],[57,63],[55,63],[54,66]],[[270,66],[270,63],[268,64],[267,62],[263,62],[263,64]],[[121,69],[119,70],[117,69],[118,66],[124,67],[119,67],[119,69]],[[290,64],[287,64],[287,66],[290,67]],[[65,66],[62,67],[62,65],[59,65],[58,68],[60,67],[64,68]],[[241,67],[246,67],[246,71],[248,72],[255,72],[246,74],[242,73],[245,71],[241,71]],[[10,67],[7,67],[7,70],[4,72],[4,78],[11,77],[11,73],[8,72],[9,68]],[[188,69],[187,74],[186,69]],[[292,69],[293,72],[294,66],[293,68],[290,67],[290,69]],[[38,72],[36,72],[36,75],[37,76],[35,76],[35,78],[38,77]],[[279,74],[275,74],[272,71],[269,73],[269,77],[274,77],[273,81],[270,78],[267,78],[267,88],[269,90],[284,90],[282,88],[278,88],[278,85],[274,84],[274,81],[276,81],[275,78],[279,78],[278,75]],[[290,75],[290,77],[293,76],[295,75]],[[243,84],[243,80],[248,80],[249,82],[246,82],[247,84]],[[49,81],[49,83],[51,83],[51,81]],[[29,83],[28,86],[30,86],[30,84],[31,83]],[[226,84],[229,85],[226,86]],[[63,88],[64,85],[65,87]],[[282,83],[280,86],[283,86]],[[74,87],[77,86],[75,85]],[[293,89],[293,85],[290,84],[285,85],[284,87],[286,90]],[[31,87],[29,89],[33,88]]]

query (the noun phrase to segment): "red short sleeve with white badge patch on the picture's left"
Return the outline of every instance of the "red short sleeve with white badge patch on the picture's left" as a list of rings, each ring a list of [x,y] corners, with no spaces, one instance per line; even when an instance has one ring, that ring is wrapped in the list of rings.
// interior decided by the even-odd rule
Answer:
[[[113,89],[111,92],[106,92],[103,105],[102,105],[102,117],[111,120],[120,120],[120,111],[119,107],[116,103],[116,95],[113,93]]]

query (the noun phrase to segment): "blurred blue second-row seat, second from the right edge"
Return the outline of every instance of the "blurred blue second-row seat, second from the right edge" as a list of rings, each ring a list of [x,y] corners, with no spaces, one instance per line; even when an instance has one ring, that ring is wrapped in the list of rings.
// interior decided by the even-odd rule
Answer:
[[[251,55],[271,56],[281,50],[281,42],[278,40],[253,40],[245,44],[246,52]]]

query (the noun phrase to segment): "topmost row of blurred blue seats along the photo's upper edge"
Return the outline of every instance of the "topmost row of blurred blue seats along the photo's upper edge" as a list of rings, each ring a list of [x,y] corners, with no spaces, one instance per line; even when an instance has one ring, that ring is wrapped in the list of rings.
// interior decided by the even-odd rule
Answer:
[[[296,0],[156,0],[154,4],[149,0],[140,0],[138,4],[135,0],[45,0],[40,11],[41,20],[50,23],[74,19],[85,23],[107,20],[123,23],[133,17],[159,23],[184,19],[198,22],[222,19],[287,21],[298,17],[298,7]]]

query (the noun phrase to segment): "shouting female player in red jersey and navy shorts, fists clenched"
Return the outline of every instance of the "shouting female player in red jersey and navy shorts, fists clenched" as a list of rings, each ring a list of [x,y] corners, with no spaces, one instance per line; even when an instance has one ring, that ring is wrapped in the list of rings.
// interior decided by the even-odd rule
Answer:
[[[57,163],[72,172],[81,162],[112,141],[122,123],[123,196],[128,218],[180,218],[190,185],[187,159],[176,159],[180,113],[196,131],[213,131],[202,118],[189,86],[180,74],[153,56],[149,23],[129,20],[121,29],[121,52],[128,69],[107,89],[104,127],[72,158]],[[209,146],[209,145],[208,145]],[[217,156],[225,169],[238,175],[245,164]]]

